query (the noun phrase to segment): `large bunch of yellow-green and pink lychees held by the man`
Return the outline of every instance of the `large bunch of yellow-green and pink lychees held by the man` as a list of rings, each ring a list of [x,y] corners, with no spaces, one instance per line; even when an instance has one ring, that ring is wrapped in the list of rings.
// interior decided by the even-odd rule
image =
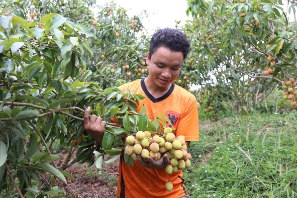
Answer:
[[[165,171],[169,175],[191,165],[191,155],[187,152],[184,136],[175,137],[170,127],[164,128],[163,133],[138,131],[135,135],[127,136],[126,143],[125,152],[134,161],[137,160],[136,155],[141,155],[146,161],[148,156],[158,160],[167,154],[170,164],[165,167]],[[170,177],[165,186],[168,191],[172,190]]]

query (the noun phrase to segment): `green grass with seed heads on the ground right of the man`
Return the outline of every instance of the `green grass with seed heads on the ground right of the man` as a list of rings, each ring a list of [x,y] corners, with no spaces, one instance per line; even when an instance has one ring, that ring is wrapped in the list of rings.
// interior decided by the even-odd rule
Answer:
[[[297,112],[200,121],[183,171],[192,197],[297,197]]]

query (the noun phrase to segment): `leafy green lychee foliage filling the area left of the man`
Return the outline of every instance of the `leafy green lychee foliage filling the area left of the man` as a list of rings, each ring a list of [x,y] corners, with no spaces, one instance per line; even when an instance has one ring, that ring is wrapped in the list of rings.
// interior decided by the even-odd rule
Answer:
[[[133,115],[136,119],[135,102],[143,96],[115,88],[147,72],[143,64],[147,38],[136,35],[142,28],[140,18],[129,18],[123,8],[110,4],[99,9],[95,20],[89,10],[94,5],[94,1],[0,3],[0,189],[4,196],[64,197],[55,179],[67,187],[65,177],[71,178],[64,171],[67,167],[75,162],[92,165],[95,159],[100,167],[104,153],[119,153],[113,143],[118,145],[128,128],[138,129],[142,121],[134,120],[133,128],[125,115],[131,116],[131,122]],[[128,67],[122,69],[128,64],[130,69],[141,68],[141,75],[128,75]],[[104,148],[83,132],[82,113],[88,106],[110,121]],[[125,122],[113,125],[112,117]],[[61,167],[54,162],[59,159],[52,154],[54,142],[68,150]],[[76,157],[71,160],[73,153]],[[49,179],[45,172],[51,174]]]

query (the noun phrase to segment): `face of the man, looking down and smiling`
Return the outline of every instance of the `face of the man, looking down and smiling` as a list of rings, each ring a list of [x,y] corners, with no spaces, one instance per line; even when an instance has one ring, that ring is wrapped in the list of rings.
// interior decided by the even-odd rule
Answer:
[[[149,66],[148,80],[157,88],[169,88],[178,77],[183,62],[182,52],[171,51],[168,48],[158,48],[146,63]]]

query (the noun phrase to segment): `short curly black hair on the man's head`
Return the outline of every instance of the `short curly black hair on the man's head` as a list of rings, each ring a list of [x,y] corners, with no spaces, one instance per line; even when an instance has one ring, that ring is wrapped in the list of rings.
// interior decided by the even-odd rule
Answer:
[[[175,52],[182,52],[183,59],[189,53],[190,43],[186,35],[181,31],[173,28],[159,29],[155,32],[150,40],[149,58],[159,48],[165,47]]]

